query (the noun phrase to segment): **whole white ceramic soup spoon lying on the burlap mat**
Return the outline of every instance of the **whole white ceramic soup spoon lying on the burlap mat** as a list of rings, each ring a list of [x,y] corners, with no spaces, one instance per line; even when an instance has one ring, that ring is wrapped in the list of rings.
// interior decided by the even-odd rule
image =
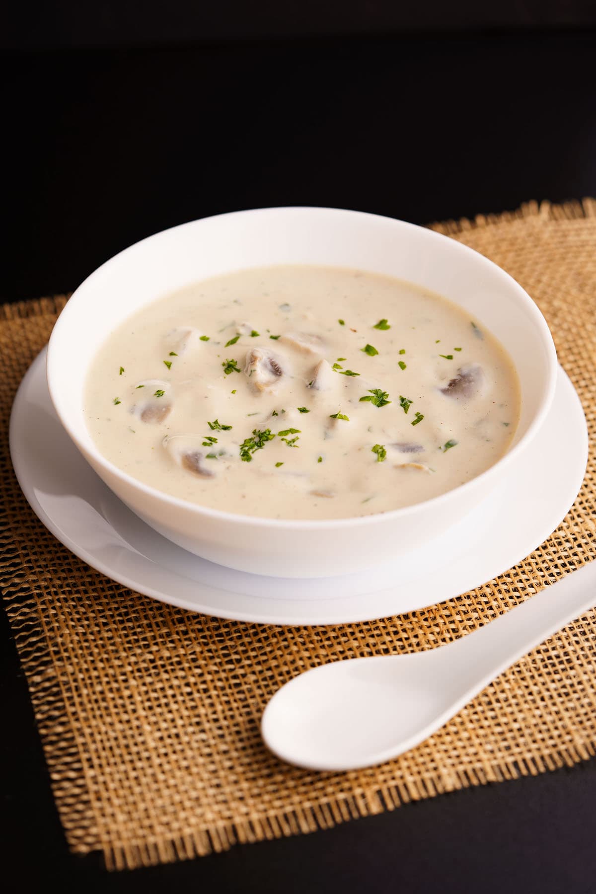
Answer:
[[[441,648],[323,664],[275,693],[265,745],[309,770],[357,770],[418,745],[510,664],[596,603],[596,561]]]

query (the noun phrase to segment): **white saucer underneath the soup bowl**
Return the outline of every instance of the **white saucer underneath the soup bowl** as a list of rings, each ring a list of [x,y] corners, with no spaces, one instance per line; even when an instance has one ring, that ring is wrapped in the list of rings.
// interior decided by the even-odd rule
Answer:
[[[198,559],[156,534],[106,487],[64,432],[46,386],[46,350],[13,404],[13,466],[31,508],[89,565],[165,603],[268,624],[342,624],[450,599],[521,561],[564,518],[582,484],[588,439],[573,385],[557,392],[533,446],[496,493],[408,561],[342,578],[261,578]]]

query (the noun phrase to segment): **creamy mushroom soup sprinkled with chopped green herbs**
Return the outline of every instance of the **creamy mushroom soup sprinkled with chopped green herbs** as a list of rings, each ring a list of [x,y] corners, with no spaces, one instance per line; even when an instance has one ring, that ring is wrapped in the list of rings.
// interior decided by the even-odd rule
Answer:
[[[93,359],[85,414],[106,459],[165,493],[337,519],[479,475],[507,451],[519,403],[507,352],[447,299],[389,276],[272,266],[130,316]]]

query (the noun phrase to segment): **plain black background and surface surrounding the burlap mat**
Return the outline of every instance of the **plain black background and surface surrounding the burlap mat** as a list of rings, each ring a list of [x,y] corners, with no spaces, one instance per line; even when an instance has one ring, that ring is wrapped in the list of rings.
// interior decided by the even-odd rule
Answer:
[[[62,0],[0,29],[0,300],[164,227],[271,205],[429,223],[596,195],[596,4]],[[596,764],[108,878],[70,856],[2,618],[19,890],[596,890]]]

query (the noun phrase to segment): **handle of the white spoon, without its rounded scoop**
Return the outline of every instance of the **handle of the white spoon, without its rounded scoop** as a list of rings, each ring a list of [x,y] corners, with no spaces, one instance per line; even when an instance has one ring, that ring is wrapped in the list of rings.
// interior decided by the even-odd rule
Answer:
[[[471,688],[479,692],[510,664],[595,604],[596,561],[592,561],[447,646],[453,647],[453,670],[461,671],[462,682],[463,675],[473,671]]]

